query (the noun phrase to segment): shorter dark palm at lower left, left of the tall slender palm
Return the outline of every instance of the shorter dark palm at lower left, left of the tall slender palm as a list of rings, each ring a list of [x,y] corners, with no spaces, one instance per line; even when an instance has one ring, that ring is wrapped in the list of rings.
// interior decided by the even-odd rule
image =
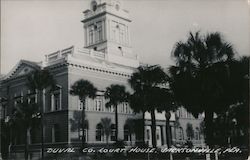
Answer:
[[[28,147],[31,142],[30,131],[40,124],[40,112],[37,104],[28,103],[27,99],[19,103],[13,113],[16,123],[25,132],[25,159],[28,159]]]

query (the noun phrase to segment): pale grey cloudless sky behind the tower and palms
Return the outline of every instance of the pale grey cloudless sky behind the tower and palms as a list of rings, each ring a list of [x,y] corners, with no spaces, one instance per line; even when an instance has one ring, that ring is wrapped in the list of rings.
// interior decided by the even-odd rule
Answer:
[[[133,51],[143,63],[174,64],[171,51],[190,31],[221,32],[237,55],[250,55],[249,0],[123,0],[129,11]],[[1,0],[1,65],[8,73],[20,59],[72,45],[84,46],[83,11],[90,0]]]

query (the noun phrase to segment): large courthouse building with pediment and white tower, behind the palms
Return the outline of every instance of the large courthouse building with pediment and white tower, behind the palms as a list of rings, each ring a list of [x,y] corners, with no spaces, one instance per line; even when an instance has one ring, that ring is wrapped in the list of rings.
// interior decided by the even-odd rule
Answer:
[[[105,135],[102,134],[101,118],[112,120],[112,133],[109,141],[114,141],[114,109],[105,107],[103,93],[111,84],[126,86],[131,74],[140,65],[138,57],[132,52],[131,35],[128,11],[123,9],[119,0],[92,0],[89,9],[84,11],[83,31],[85,33],[85,46],[71,46],[58,50],[45,56],[42,62],[20,60],[18,64],[1,78],[1,110],[2,117],[8,121],[13,108],[28,95],[29,101],[40,103],[37,93],[31,93],[26,86],[26,77],[37,69],[48,69],[56,80],[57,90],[53,93],[44,92],[44,130],[45,146],[77,145],[81,142],[81,136],[89,144],[105,143]],[[81,25],[81,24],[79,24]],[[69,94],[71,85],[79,79],[85,79],[94,84],[98,89],[95,99],[86,100],[87,127],[84,130],[75,129],[73,125],[79,121],[78,113],[82,104],[77,96]],[[180,111],[178,111],[179,113]],[[176,116],[179,117],[176,125]],[[166,145],[166,129],[164,113],[157,114],[157,145]],[[186,123],[194,124],[194,132],[197,145],[203,143],[200,134],[201,117],[195,120],[187,116],[184,121],[183,114],[172,113],[171,131],[174,143],[184,144],[188,139]],[[134,113],[128,103],[118,106],[119,133],[118,139],[134,144],[137,136],[128,132],[127,119],[140,119],[141,114]],[[150,115],[146,114],[145,140],[151,145]],[[194,122],[194,123],[193,123]],[[198,133],[197,133],[198,132]],[[32,131],[32,145],[39,146],[40,132]],[[132,134],[132,136],[130,136]],[[15,138],[15,146],[23,144],[22,134]],[[195,138],[194,137],[194,138]],[[191,137],[192,139],[192,137]],[[132,141],[132,143],[130,143]]]

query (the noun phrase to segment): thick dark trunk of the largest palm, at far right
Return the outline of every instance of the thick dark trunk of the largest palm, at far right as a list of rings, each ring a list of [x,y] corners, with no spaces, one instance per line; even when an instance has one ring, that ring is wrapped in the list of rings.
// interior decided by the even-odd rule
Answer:
[[[205,111],[206,144],[211,147],[213,140],[213,111]]]

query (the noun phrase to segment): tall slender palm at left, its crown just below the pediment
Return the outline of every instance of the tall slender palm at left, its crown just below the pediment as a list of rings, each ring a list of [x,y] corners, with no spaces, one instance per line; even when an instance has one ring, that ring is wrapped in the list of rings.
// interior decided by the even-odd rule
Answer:
[[[48,88],[55,87],[55,80],[47,69],[36,70],[31,72],[27,77],[27,86],[33,91],[38,91],[41,113],[41,147],[42,159],[44,159],[44,91]]]

